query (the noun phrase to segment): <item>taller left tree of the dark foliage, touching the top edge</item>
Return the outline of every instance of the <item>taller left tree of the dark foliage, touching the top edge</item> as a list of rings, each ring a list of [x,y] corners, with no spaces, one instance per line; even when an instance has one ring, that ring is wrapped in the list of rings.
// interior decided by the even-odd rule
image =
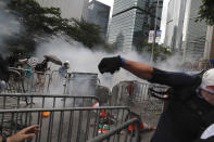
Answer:
[[[10,0],[9,8],[18,16],[28,36],[63,30],[68,20],[61,17],[59,8],[41,8],[35,0]]]

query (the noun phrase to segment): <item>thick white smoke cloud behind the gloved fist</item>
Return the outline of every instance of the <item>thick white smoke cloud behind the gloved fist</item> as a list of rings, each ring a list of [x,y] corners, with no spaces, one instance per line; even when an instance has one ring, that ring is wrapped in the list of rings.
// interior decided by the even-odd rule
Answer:
[[[111,74],[103,74],[101,75],[98,70],[98,64],[102,57],[106,56],[115,56],[121,55],[125,59],[129,59],[133,61],[142,62],[149,64],[150,55],[148,53],[138,54],[136,51],[130,51],[128,53],[124,53],[117,51],[115,53],[106,53],[103,51],[91,51],[85,48],[81,43],[72,41],[67,42],[62,36],[61,37],[52,37],[46,42],[38,44],[36,56],[42,59],[45,54],[53,54],[56,55],[62,62],[70,61],[70,73],[71,72],[78,72],[78,73],[96,73],[98,74],[99,79],[101,80],[101,85],[112,88],[114,85],[118,83],[123,80],[140,80],[142,79],[137,78],[136,76],[131,75],[130,73],[121,69],[119,72],[115,73],[114,75]],[[169,59],[168,61],[156,64],[163,69],[173,69],[179,62],[177,57]],[[55,66],[53,64],[49,64],[51,69],[59,69],[60,66]]]

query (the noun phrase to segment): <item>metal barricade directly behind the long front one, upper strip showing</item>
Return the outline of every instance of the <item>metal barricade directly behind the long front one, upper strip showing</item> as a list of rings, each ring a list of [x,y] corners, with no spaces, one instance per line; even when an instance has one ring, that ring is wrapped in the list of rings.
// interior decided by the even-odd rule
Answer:
[[[63,95],[41,93],[0,93],[0,108],[55,108],[92,106],[100,102],[92,95]]]

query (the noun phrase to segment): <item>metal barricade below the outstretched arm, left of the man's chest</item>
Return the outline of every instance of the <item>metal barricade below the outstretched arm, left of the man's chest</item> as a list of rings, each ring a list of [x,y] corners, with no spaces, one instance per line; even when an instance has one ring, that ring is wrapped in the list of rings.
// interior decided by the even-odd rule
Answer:
[[[153,85],[148,82],[139,81],[123,81],[117,83],[112,89],[112,99],[111,105],[126,105],[131,106],[134,103],[152,103],[162,104],[163,101],[160,101],[156,98],[153,98],[150,93],[150,88],[155,89],[156,91],[164,92],[168,89],[166,86]]]

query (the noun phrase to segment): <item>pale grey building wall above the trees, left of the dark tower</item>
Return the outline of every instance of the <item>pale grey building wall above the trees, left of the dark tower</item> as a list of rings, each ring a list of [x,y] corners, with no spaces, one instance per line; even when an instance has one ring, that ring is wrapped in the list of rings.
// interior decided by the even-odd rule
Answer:
[[[60,8],[64,18],[86,18],[89,0],[36,0],[42,7]]]

